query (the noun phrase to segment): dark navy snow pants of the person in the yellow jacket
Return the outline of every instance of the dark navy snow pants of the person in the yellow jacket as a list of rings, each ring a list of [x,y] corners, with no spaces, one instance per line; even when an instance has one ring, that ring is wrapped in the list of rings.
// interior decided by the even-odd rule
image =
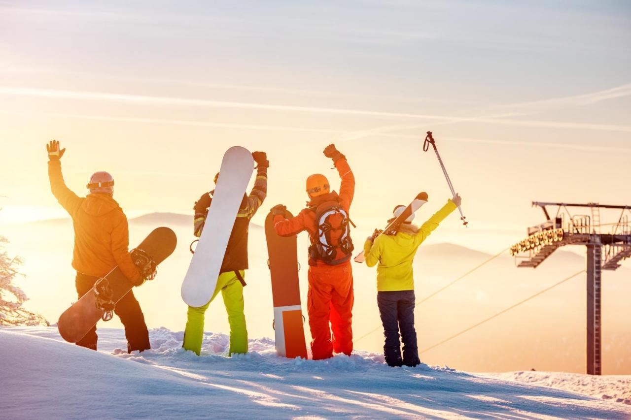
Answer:
[[[377,292],[377,305],[386,337],[384,354],[388,366],[416,366],[421,363],[414,329],[414,303],[413,290]],[[403,358],[399,331],[403,340]]]

